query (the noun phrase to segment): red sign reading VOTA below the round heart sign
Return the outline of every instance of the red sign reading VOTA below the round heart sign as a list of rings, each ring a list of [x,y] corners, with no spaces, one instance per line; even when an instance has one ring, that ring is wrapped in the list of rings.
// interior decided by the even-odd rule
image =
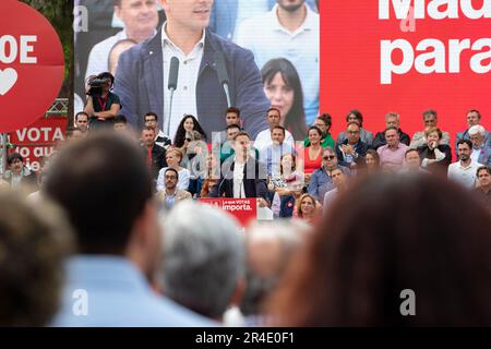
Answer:
[[[55,145],[64,140],[67,118],[39,119],[28,128],[10,134],[10,142],[17,147],[27,166],[39,170],[39,158],[51,155]]]

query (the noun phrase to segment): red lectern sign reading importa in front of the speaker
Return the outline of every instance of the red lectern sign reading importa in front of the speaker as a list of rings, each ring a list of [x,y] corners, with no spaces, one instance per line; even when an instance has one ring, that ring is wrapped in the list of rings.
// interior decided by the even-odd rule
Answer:
[[[217,206],[237,218],[242,227],[249,226],[258,217],[258,200],[251,198],[224,198],[204,197],[201,203]]]

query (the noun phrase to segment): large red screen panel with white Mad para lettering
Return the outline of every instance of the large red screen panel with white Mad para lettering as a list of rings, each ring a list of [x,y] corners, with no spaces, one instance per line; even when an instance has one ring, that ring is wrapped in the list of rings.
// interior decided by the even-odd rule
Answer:
[[[330,0],[320,10],[321,110],[334,134],[350,109],[373,132],[395,111],[412,135],[427,109],[452,136],[468,109],[491,129],[490,0]]]

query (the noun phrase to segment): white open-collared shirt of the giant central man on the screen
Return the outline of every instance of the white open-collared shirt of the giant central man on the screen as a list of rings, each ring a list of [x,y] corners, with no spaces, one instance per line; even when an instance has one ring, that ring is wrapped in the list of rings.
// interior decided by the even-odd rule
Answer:
[[[204,52],[205,31],[200,41],[193,50],[185,55],[173,44],[165,31],[166,24],[161,27],[163,57],[164,57],[164,122],[163,131],[173,139],[183,115],[190,113],[200,119],[196,108],[196,81],[200,74],[201,60]],[[176,57],[179,60],[179,75],[177,88],[173,92],[172,115],[169,116],[170,91],[167,88],[169,82],[170,59]],[[169,123],[170,118],[170,123]]]

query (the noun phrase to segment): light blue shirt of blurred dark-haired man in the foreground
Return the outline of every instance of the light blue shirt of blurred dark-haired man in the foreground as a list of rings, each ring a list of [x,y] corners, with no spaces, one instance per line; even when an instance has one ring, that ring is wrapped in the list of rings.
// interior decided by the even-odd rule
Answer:
[[[76,255],[68,261],[65,273],[53,326],[216,326],[156,294],[142,273],[122,256]],[[83,301],[81,291],[86,294],[86,315],[77,305]]]

